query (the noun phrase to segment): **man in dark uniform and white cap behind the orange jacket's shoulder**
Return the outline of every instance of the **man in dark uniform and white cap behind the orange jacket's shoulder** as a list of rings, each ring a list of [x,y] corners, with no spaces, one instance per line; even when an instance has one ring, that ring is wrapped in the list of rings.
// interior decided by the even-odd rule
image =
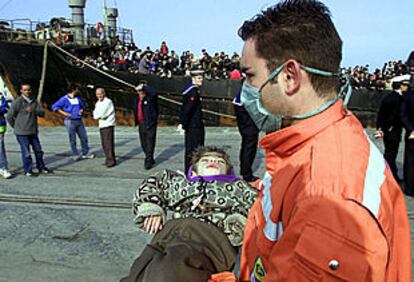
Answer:
[[[384,139],[384,158],[391,168],[392,174],[397,181],[398,169],[396,159],[401,142],[402,122],[400,118],[401,102],[404,86],[401,85],[401,76],[391,80],[393,91],[387,94],[381,101],[377,116],[376,138]]]

